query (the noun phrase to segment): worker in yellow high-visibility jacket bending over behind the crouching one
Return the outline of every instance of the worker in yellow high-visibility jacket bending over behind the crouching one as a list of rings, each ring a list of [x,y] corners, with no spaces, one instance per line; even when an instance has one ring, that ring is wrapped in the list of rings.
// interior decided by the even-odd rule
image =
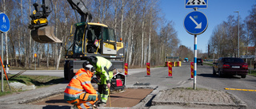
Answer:
[[[90,56],[88,58],[90,64],[93,64],[96,68],[96,76],[100,76],[100,83],[98,83],[98,92],[101,95],[101,102],[98,103],[99,107],[106,106],[106,101],[109,96],[110,80],[113,77],[113,73],[116,73],[116,69],[106,58],[102,56]]]

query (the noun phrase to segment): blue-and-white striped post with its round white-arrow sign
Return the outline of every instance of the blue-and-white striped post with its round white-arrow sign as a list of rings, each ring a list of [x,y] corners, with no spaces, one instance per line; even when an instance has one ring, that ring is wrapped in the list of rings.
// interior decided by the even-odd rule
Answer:
[[[194,1],[185,1],[194,2]],[[208,27],[206,15],[198,11],[198,6],[194,6],[194,11],[186,15],[184,19],[184,28],[187,33],[194,35],[194,90],[197,83],[197,35],[204,33]]]

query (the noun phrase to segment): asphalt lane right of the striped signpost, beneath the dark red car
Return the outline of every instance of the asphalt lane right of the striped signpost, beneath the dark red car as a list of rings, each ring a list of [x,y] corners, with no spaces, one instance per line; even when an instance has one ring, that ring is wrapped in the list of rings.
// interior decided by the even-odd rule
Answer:
[[[238,88],[238,89],[253,89],[256,90],[256,77],[246,76],[242,79],[241,76],[225,76],[218,77],[212,74],[212,67],[203,65],[198,66],[198,84],[208,88],[228,91],[233,95],[246,102],[248,108],[255,108],[256,91],[231,91],[224,88]]]

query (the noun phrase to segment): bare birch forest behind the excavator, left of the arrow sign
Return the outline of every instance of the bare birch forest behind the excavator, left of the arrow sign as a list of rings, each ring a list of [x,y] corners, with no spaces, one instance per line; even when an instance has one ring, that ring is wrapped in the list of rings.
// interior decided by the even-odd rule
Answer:
[[[63,64],[64,52],[60,44],[42,44],[30,37],[30,14],[33,3],[41,0],[1,0],[0,11],[10,19],[10,31],[5,33],[4,54],[10,65],[31,68],[34,53],[38,62],[56,69]],[[146,63],[162,65],[165,56],[178,54],[180,41],[174,22],[164,19],[157,0],[82,0],[93,16],[92,22],[109,25],[122,38],[125,48],[125,62],[129,66],[143,67]],[[54,0],[49,25],[55,27],[56,37],[66,43],[71,25],[76,20],[75,10],[63,0]],[[80,16],[78,16],[80,19]],[[184,49],[184,47],[182,47]],[[185,47],[185,49],[187,49]],[[190,49],[189,49],[190,50]],[[190,50],[191,51],[191,50]],[[188,54],[186,54],[188,55]],[[192,54],[193,55],[193,54]],[[5,62],[6,63],[6,62]]]

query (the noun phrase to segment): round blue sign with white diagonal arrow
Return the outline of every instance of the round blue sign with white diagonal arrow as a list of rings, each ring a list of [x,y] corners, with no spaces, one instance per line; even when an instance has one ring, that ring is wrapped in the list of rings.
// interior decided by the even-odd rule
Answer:
[[[198,35],[206,31],[208,20],[200,11],[192,11],[184,19],[184,28],[187,33]]]

